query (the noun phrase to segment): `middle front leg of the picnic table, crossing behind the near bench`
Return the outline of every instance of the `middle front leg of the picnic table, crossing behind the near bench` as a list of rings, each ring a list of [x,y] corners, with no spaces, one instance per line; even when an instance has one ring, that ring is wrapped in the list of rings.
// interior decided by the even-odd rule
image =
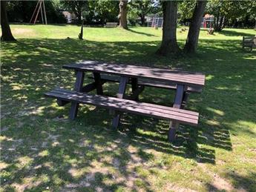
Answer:
[[[117,93],[117,98],[123,99],[125,96],[125,88],[126,88],[126,84],[128,82],[128,77],[122,76],[120,78],[120,82],[119,82],[119,88],[118,88],[118,93]],[[116,112],[114,112],[115,117],[112,120],[112,126],[113,128],[117,128],[119,125],[119,120],[120,120],[120,113],[117,114]]]

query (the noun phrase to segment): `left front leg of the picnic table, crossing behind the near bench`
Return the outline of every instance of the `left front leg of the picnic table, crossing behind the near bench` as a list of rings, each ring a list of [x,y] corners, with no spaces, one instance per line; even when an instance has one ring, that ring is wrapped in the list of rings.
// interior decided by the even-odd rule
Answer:
[[[82,83],[84,82],[85,79],[85,73],[82,71],[77,71],[76,72],[76,82],[75,82],[75,87],[74,90],[76,91],[81,91],[82,90]],[[79,107],[79,103],[77,102],[71,102],[71,108],[70,108],[70,113],[69,113],[69,118],[70,119],[75,119],[77,116],[77,110]]]

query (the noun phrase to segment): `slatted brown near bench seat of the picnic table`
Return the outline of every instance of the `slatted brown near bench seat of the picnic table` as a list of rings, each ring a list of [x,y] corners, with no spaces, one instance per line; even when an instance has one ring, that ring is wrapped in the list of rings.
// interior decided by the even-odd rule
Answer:
[[[135,102],[128,99],[119,99],[109,96],[91,95],[89,93],[81,93],[78,91],[65,90],[62,88],[51,90],[50,92],[45,93],[45,96],[54,99],[62,99],[68,102],[95,105],[121,112],[151,116],[157,119],[174,120],[186,125],[197,125],[199,118],[199,113],[191,110],[154,105],[145,102]]]

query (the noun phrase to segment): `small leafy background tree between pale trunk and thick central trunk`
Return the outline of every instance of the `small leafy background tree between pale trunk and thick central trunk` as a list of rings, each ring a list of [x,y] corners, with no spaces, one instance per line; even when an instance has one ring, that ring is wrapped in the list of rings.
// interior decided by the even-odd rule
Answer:
[[[141,25],[145,26],[145,16],[154,8],[153,0],[134,0],[131,1],[131,8],[140,16]]]

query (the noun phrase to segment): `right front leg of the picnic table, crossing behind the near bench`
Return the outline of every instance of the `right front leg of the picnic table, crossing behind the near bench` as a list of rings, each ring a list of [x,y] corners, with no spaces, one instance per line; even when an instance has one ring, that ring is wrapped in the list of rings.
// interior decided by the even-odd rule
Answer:
[[[177,85],[176,95],[174,99],[174,108],[181,108],[183,103],[183,94],[184,94],[184,85]],[[168,130],[168,141],[174,142],[176,136],[176,130],[179,128],[178,122],[170,122],[169,130]]]

